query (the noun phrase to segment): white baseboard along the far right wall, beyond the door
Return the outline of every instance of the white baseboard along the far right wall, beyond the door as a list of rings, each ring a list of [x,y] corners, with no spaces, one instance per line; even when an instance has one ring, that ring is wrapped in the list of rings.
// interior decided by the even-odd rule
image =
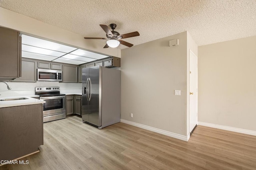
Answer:
[[[256,131],[240,129],[240,128],[236,128],[236,127],[216,125],[216,124],[205,123],[205,122],[200,122],[200,121],[198,121],[198,125],[207,126],[207,127],[213,127],[213,128],[217,128],[217,129],[222,129],[222,130],[227,130],[227,131],[244,133],[244,134],[247,134],[247,135],[254,135],[254,136],[256,136]]]

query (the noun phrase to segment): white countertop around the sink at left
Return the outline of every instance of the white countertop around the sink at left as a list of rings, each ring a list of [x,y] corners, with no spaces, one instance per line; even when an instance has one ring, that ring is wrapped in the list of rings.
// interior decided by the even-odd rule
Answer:
[[[9,101],[0,101],[0,108],[1,107],[13,107],[13,106],[24,106],[24,105],[31,105],[31,104],[43,104],[45,103],[44,100],[38,100],[31,97],[39,97],[38,95],[29,95],[28,96],[0,96],[1,99],[9,99],[9,98],[28,98],[24,100],[9,100]]]

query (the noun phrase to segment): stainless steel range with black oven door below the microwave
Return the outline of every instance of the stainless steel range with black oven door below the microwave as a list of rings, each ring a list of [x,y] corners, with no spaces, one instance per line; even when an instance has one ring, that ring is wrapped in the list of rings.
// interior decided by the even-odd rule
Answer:
[[[66,95],[60,94],[60,87],[36,87],[36,95],[44,100],[44,122],[66,118]]]

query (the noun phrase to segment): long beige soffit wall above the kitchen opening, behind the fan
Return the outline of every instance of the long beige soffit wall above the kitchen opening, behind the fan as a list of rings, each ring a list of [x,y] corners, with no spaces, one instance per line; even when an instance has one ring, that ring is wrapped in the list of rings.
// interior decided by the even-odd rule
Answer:
[[[64,45],[87,49],[114,57],[121,57],[118,48],[106,48],[106,41],[85,40],[84,35],[78,35],[70,31],[49,25],[42,21],[34,20],[27,16],[6,10],[0,7],[0,26],[16,29],[26,35],[50,40]]]

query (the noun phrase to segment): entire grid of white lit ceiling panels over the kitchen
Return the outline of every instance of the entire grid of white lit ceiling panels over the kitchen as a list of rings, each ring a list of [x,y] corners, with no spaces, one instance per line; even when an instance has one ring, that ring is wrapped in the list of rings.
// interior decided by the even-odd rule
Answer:
[[[73,52],[70,53],[71,51]],[[108,56],[22,35],[22,57],[78,65]]]

